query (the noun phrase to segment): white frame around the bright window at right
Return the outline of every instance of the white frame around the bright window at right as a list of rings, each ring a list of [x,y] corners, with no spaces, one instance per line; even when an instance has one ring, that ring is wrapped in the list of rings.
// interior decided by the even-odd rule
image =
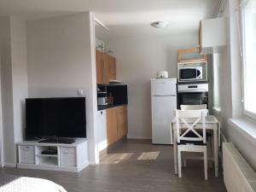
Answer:
[[[245,9],[247,3],[251,0],[241,0],[241,51],[242,51],[242,72],[241,72],[241,83],[242,83],[242,102],[243,102],[243,113],[246,117],[256,120],[256,113],[250,112],[246,109],[246,29],[245,29]]]

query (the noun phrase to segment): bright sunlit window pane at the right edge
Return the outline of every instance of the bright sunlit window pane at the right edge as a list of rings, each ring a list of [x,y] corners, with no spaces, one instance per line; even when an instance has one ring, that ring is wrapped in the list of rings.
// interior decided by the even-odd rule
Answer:
[[[245,2],[242,9],[244,111],[256,119],[256,0]]]

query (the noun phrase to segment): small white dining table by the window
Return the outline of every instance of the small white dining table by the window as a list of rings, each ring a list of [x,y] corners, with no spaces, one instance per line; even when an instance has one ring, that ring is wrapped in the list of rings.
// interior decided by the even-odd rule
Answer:
[[[195,119],[187,120],[188,123],[194,123]],[[201,129],[201,121],[199,121],[195,125],[195,129]],[[181,124],[181,128],[185,127]],[[220,146],[220,126],[218,119],[214,115],[207,115],[206,116],[206,128],[207,131],[213,132],[213,160],[214,160],[214,169],[215,169],[215,177],[218,177],[218,148]],[[177,128],[176,128],[176,118],[172,119],[171,123],[171,137],[173,141],[173,153],[174,153],[174,170],[175,174],[177,174]]]

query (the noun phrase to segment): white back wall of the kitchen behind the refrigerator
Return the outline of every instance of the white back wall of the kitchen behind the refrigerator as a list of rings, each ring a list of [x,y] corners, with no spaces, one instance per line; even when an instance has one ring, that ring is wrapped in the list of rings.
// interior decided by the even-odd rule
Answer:
[[[177,49],[197,45],[197,32],[108,42],[116,57],[117,79],[128,84],[128,137],[151,137],[150,79],[159,70],[167,70],[176,78]]]

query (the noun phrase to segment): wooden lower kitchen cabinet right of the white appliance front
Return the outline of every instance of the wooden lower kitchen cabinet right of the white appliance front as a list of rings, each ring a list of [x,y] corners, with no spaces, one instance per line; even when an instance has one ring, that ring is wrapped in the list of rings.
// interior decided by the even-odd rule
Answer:
[[[106,114],[107,140],[109,146],[127,135],[127,106],[108,108]]]

